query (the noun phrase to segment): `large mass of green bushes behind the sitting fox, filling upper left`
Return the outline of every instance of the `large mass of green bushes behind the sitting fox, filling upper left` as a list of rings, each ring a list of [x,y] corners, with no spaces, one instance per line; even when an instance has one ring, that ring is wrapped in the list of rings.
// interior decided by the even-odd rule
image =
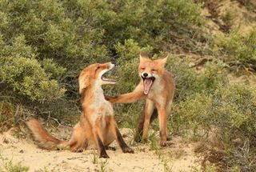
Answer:
[[[37,102],[38,108],[60,98],[77,106],[77,77],[84,66],[117,55],[123,74],[131,76],[140,50],[154,46],[157,52],[170,30],[187,34],[179,28],[203,23],[200,6],[191,0],[0,0],[0,5],[1,94],[26,105]],[[122,83],[118,88],[134,86]]]

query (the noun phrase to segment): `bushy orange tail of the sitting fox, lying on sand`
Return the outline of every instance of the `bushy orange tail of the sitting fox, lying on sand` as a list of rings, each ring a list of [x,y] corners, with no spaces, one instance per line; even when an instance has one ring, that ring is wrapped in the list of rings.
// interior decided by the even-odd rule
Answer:
[[[26,125],[34,135],[34,139],[38,142],[38,146],[45,150],[58,150],[58,145],[66,141],[59,140],[50,135],[36,119],[30,119]]]

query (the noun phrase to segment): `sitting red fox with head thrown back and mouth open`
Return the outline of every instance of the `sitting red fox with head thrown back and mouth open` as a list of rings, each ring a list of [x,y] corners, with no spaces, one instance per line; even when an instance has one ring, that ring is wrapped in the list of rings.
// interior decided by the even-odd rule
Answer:
[[[112,104],[104,98],[102,85],[114,84],[115,81],[104,77],[114,64],[92,64],[82,70],[79,75],[79,93],[81,94],[82,115],[74,130],[70,141],[61,141],[51,136],[36,119],[26,122],[34,134],[39,146],[47,150],[58,150],[67,146],[70,151],[86,149],[94,143],[97,146],[100,158],[109,158],[106,146],[117,140],[123,153],[134,153],[124,142],[114,119]]]

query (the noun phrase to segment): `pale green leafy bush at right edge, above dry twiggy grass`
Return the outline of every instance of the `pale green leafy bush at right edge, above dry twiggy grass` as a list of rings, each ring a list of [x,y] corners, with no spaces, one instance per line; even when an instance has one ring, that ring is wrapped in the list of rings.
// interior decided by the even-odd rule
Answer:
[[[202,92],[186,98],[178,106],[174,106],[174,114],[177,113],[184,118],[181,123],[189,122],[189,126],[192,123],[195,126],[207,125],[203,128],[209,130],[210,126],[223,127],[223,132],[229,130],[230,138],[236,134],[232,128],[242,129],[240,130],[242,135],[253,136],[255,134],[255,125],[252,122],[256,106],[255,91],[253,87],[245,85],[219,86],[213,94]],[[234,134],[233,137],[232,134]]]

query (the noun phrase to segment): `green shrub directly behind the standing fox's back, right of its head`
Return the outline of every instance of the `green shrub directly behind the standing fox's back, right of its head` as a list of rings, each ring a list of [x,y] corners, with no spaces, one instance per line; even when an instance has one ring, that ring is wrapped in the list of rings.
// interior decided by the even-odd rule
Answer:
[[[204,71],[190,68],[187,60],[171,56],[166,63],[166,70],[173,75],[176,90],[175,101],[182,101],[201,92],[212,93],[218,85],[227,82],[226,70],[220,61],[209,62]]]

